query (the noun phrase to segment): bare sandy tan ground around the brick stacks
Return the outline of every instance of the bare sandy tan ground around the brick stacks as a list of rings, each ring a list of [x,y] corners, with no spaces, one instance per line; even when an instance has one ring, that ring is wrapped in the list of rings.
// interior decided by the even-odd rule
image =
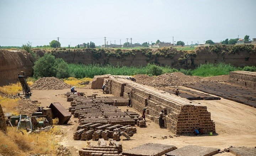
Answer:
[[[186,87],[180,87],[186,88]],[[51,102],[60,102],[65,108],[70,107],[70,102],[66,101],[64,94],[70,89],[63,90],[33,90],[32,100],[38,100],[42,106],[49,106]],[[86,95],[98,94],[102,96],[101,90],[93,89],[78,89]],[[196,91],[196,90],[195,90]],[[198,91],[200,92],[200,91]],[[104,94],[104,96],[112,96]],[[213,95],[214,96],[214,95]],[[145,143],[161,143],[174,145],[178,148],[186,145],[199,145],[205,147],[215,147],[223,150],[229,146],[256,146],[256,108],[246,106],[234,101],[221,100],[195,100],[203,106],[207,106],[208,111],[211,112],[211,118],[215,122],[217,134],[209,136],[208,134],[201,136],[181,136],[174,138],[162,139],[164,136],[174,135],[167,129],[160,129],[159,126],[147,119],[147,128],[137,127],[137,133],[131,140],[125,140],[121,137],[123,150],[131,149],[133,147]],[[121,110],[126,110],[127,107],[120,107]],[[135,111],[133,108],[129,108]],[[137,112],[137,111],[135,111]],[[141,112],[138,112],[141,114]],[[77,156],[78,150],[86,147],[87,141],[74,140],[73,133],[75,132],[78,123],[78,118],[71,117],[66,125],[61,125],[64,135],[57,135],[59,143],[68,147],[72,155]],[[156,137],[156,138],[153,138]],[[90,140],[91,144],[97,145],[97,141]],[[231,156],[231,153],[217,154],[223,156]]]

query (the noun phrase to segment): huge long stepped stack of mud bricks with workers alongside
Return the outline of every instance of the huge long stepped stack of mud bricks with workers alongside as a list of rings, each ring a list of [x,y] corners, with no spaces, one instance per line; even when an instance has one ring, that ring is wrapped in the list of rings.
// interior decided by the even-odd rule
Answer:
[[[132,107],[139,112],[146,108],[147,115],[156,123],[159,123],[159,113],[164,110],[166,128],[175,134],[192,133],[193,128],[201,128],[205,133],[215,132],[215,123],[206,106],[127,79],[108,79],[107,83],[111,83],[113,95],[122,92],[127,98],[127,93],[132,90]]]

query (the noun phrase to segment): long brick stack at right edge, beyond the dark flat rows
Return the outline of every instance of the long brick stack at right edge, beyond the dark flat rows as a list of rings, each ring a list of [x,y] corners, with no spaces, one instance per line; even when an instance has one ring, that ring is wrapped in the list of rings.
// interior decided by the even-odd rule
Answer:
[[[229,72],[228,82],[244,87],[256,88],[256,72]]]

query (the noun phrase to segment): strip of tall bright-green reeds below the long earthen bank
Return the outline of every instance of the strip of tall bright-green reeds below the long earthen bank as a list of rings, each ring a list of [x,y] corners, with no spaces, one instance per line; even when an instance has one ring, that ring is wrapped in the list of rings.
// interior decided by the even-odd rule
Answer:
[[[244,70],[244,71],[256,71],[256,67],[235,67],[230,64],[218,63],[218,64],[204,64],[196,69],[175,69],[170,66],[156,66],[149,64],[144,67],[127,67],[127,66],[113,66],[113,65],[82,65],[82,64],[69,64],[70,77],[93,78],[95,75],[112,74],[112,75],[135,75],[135,74],[148,74],[150,76],[160,75],[164,73],[182,72],[186,75],[193,76],[218,76],[227,75],[230,71]]]

